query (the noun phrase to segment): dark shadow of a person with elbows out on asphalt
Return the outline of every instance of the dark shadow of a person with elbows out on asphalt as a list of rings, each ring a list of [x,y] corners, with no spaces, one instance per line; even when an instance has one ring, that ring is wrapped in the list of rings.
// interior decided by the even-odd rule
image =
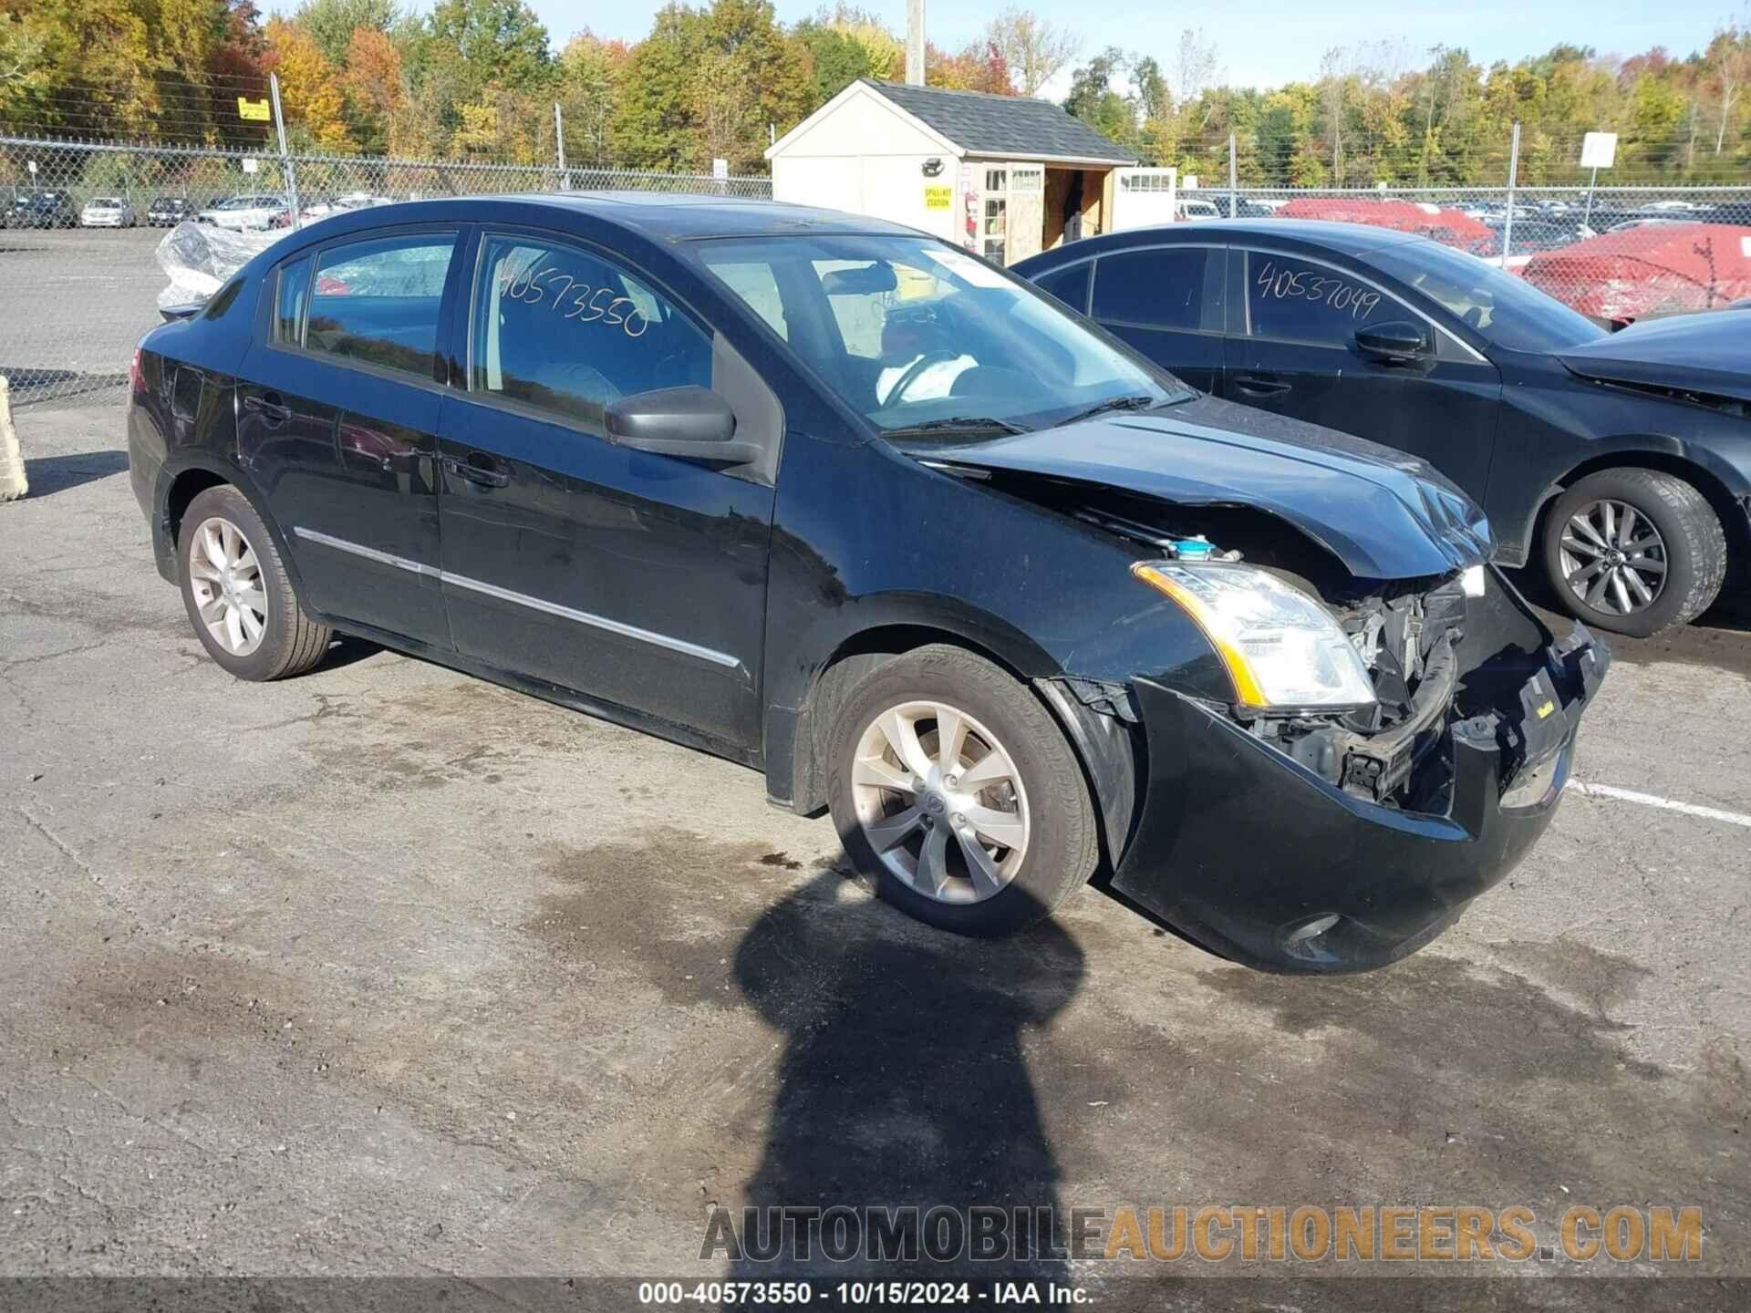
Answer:
[[[765,1150],[735,1217],[735,1278],[1065,1280],[1061,1173],[1026,1050],[1082,986],[1082,951],[1054,921],[1007,940],[946,935],[844,889],[849,879],[821,870],[735,952],[737,986],[784,1033]],[[851,1215],[828,1215],[804,1253],[795,1232],[832,1208]],[[802,1211],[774,1231],[777,1210]],[[916,1225],[900,1260],[872,1253],[879,1210],[900,1210],[902,1234]],[[1052,1220],[1017,1225],[1016,1210]]]

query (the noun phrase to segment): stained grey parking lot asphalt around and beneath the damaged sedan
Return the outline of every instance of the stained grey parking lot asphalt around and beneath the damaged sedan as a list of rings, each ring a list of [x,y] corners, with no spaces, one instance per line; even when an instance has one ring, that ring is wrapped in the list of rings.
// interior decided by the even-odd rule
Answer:
[[[0,1274],[692,1280],[713,1204],[919,1194],[1522,1204],[1541,1245],[1578,1203],[1697,1206],[1688,1271],[1751,1274],[1744,628],[1614,642],[1576,763],[1723,816],[1574,791],[1431,949],[1282,979],[1096,889],[937,935],[760,776],[396,653],[233,681],[152,569],[121,411],[19,427]]]

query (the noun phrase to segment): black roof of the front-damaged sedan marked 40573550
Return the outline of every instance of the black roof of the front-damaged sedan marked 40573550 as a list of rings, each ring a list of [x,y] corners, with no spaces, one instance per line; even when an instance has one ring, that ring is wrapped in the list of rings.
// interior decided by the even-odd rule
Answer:
[[[919,235],[918,229],[886,219],[823,210],[812,205],[665,191],[517,193],[399,201],[324,219],[322,228],[324,233],[338,235],[396,222],[492,219],[501,222],[541,222],[546,219],[552,222],[553,215],[564,214],[588,215],[657,242],[688,242],[706,236]]]

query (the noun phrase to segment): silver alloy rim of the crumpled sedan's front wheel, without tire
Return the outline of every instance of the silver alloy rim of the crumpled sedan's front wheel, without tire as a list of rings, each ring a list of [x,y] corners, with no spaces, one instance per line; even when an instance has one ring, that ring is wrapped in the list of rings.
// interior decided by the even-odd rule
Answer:
[[[902,702],[858,741],[853,805],[881,863],[944,903],[981,903],[1016,879],[1031,821],[1003,744],[946,702]]]

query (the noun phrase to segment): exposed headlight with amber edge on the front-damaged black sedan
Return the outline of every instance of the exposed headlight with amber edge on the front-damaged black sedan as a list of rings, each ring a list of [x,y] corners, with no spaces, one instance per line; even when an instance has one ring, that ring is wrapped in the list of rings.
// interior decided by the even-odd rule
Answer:
[[[1252,565],[1140,560],[1131,572],[1171,597],[1205,632],[1255,711],[1366,707],[1368,669],[1338,621],[1299,588]]]

